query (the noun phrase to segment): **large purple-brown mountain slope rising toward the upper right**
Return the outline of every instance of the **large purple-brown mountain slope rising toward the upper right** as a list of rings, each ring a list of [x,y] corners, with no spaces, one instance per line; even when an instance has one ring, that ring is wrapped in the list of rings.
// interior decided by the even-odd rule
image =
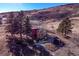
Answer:
[[[51,7],[32,14],[35,19],[57,19],[60,20],[67,16],[75,16],[79,14],[79,4],[66,4],[57,7]]]

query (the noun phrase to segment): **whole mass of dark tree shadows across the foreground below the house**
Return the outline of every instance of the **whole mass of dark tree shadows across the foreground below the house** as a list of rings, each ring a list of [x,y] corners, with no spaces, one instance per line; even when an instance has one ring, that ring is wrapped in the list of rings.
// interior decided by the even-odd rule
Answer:
[[[7,47],[13,56],[50,56],[50,53],[43,46],[35,44],[32,40],[20,40],[16,37],[8,37],[7,42]]]

